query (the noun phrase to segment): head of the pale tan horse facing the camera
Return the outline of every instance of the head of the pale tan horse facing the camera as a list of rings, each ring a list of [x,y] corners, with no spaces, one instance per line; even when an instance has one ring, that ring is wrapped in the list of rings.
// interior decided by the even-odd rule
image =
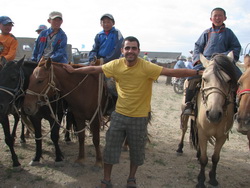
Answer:
[[[228,105],[234,105],[233,92],[237,79],[233,53],[229,53],[228,56],[216,54],[210,60],[201,54],[200,60],[206,68],[202,75],[200,90],[205,115],[210,122],[220,122],[223,113],[227,113]]]

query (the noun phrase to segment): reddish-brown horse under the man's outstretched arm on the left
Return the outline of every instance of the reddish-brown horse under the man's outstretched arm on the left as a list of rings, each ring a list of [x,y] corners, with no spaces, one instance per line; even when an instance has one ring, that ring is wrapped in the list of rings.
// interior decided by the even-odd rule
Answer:
[[[99,86],[99,79],[98,74],[69,74],[62,63],[51,62],[50,59],[41,61],[30,76],[24,110],[28,114],[35,114],[42,104],[48,103],[46,99],[60,95],[60,98],[67,101],[77,124],[79,155],[76,162],[83,163],[85,160],[85,122],[88,120],[96,150],[95,165],[101,167],[103,164],[99,146],[101,108],[105,107],[107,95],[104,87]]]

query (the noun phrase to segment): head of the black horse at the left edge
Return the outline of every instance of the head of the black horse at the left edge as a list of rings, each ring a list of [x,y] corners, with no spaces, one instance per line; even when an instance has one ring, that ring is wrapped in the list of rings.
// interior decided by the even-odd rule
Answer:
[[[24,77],[21,70],[24,58],[9,62],[1,59],[1,62],[4,66],[0,72],[0,113],[8,114],[17,99],[24,94]]]

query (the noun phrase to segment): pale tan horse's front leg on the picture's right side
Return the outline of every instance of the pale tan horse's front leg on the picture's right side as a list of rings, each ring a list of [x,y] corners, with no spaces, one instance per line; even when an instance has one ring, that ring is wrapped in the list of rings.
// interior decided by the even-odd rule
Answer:
[[[209,184],[213,186],[218,185],[218,181],[216,179],[216,169],[217,169],[217,164],[220,160],[220,151],[224,143],[226,142],[227,135],[224,135],[222,138],[216,139],[215,146],[214,146],[214,153],[212,156],[212,169],[209,172]]]

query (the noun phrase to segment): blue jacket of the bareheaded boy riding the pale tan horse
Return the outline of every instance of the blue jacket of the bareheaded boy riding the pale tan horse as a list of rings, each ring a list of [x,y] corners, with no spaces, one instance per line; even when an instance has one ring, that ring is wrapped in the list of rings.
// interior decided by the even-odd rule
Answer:
[[[239,60],[241,45],[229,28],[223,24],[219,29],[211,27],[205,30],[195,43],[194,48],[194,64],[200,60],[200,53],[207,59],[210,59],[214,53],[228,54],[230,51],[234,53],[235,61]]]

